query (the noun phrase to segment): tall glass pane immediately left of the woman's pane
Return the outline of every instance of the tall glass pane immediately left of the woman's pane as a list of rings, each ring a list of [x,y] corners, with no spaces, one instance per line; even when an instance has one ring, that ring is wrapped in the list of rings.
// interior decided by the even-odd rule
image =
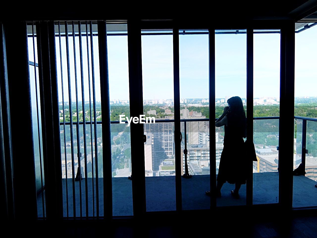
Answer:
[[[179,34],[181,174],[192,175],[191,179],[182,177],[182,206],[184,210],[209,209],[210,197],[205,195],[210,190],[209,35],[208,30],[179,32],[185,32]]]

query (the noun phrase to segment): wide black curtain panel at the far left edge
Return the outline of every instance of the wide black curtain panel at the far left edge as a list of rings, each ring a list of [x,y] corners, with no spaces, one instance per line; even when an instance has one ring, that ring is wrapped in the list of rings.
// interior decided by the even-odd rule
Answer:
[[[12,207],[12,205],[9,206],[9,202],[14,203],[15,220],[25,221],[27,217],[29,221],[34,221],[37,219],[37,197],[27,24],[21,21],[5,22],[3,29],[6,63],[4,72],[8,84],[6,95],[2,95],[5,86],[1,85],[1,96],[7,97],[5,103],[2,100],[2,119],[3,122],[6,119],[6,125],[3,125],[3,128],[7,130],[3,141],[4,149],[7,151],[5,172],[8,207],[10,209]],[[6,115],[3,113],[4,110],[7,112]],[[10,153],[13,173],[10,173],[12,171],[9,162]],[[11,181],[13,181],[14,196],[11,191],[9,193],[11,187],[8,184]]]

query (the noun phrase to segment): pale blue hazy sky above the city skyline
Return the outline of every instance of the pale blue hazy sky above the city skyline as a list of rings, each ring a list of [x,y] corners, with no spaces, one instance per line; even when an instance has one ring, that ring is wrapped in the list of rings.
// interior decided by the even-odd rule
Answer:
[[[96,100],[100,101],[98,38],[93,37]],[[295,97],[317,96],[317,26],[295,34]],[[127,36],[108,36],[110,99],[129,100]],[[143,99],[172,99],[173,42],[172,35],[141,36]],[[36,41],[35,41],[36,45]],[[89,46],[90,84],[92,90],[91,50]],[[81,101],[81,70],[79,39],[76,37],[78,100]],[[59,39],[56,37],[59,101],[61,67]],[[61,37],[64,101],[68,101],[66,41]],[[89,100],[86,37],[82,37],[83,83],[85,101]],[[76,101],[73,39],[69,37],[71,98]],[[208,35],[179,36],[180,97],[208,98]],[[216,98],[246,97],[246,34],[216,34]],[[29,60],[33,58],[33,43],[29,37]],[[36,54],[37,62],[37,54]],[[34,68],[30,69],[31,78]],[[254,97],[279,97],[280,34],[254,34]],[[35,94],[35,84],[31,84]],[[92,97],[92,94],[91,94]]]

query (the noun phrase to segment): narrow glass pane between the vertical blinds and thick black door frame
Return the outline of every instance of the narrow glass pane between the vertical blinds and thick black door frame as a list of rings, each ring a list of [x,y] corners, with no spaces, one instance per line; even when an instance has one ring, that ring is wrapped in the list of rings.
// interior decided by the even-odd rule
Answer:
[[[126,29],[126,24],[120,24]],[[108,33],[113,33],[108,29]],[[122,31],[121,33],[127,33]],[[128,38],[107,37],[109,63],[110,119],[119,121],[119,115],[130,118]],[[131,137],[127,124],[111,124],[113,215],[133,215],[131,176]]]

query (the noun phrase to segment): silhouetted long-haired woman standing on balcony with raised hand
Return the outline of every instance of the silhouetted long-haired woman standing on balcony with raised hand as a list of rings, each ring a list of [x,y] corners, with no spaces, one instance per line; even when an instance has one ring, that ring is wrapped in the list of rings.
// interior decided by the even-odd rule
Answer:
[[[223,151],[220,156],[216,196],[221,197],[220,190],[227,181],[230,184],[236,184],[231,194],[239,198],[241,184],[246,183],[245,166],[238,154],[244,147],[243,138],[247,136],[247,119],[240,97],[231,97],[227,102],[228,106],[224,108],[222,116],[216,121],[216,127],[224,125]],[[210,191],[206,191],[206,194],[210,195]]]

